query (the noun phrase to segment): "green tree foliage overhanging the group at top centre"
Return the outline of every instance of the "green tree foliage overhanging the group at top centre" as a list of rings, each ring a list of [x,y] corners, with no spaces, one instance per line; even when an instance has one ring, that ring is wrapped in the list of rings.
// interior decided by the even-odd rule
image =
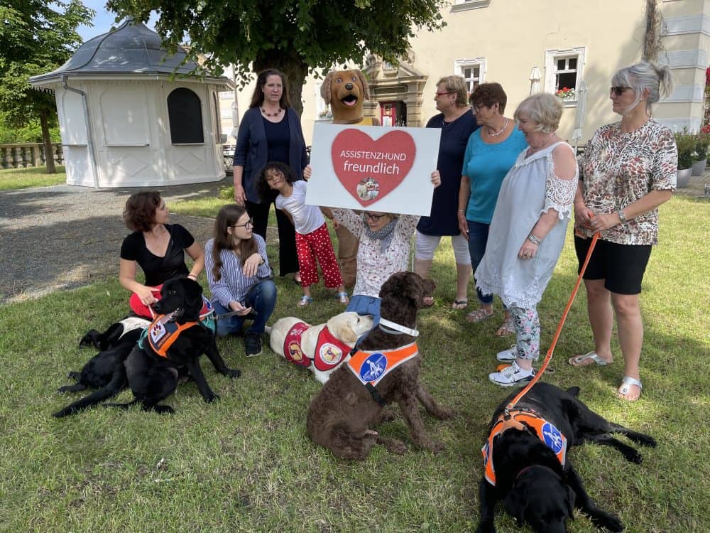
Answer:
[[[301,111],[301,88],[314,70],[367,53],[396,62],[414,36],[443,26],[445,0],[109,0],[119,16],[148,20],[158,12],[155,29],[170,50],[190,42],[190,59],[208,56],[203,68],[219,72],[236,65],[242,85],[251,70],[278,68],[288,75],[294,107]],[[322,72],[321,72],[322,73]]]

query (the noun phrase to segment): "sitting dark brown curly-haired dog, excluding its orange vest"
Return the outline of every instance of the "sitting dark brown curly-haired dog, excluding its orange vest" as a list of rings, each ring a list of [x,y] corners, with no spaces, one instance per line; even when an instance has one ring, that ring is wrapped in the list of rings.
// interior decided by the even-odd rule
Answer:
[[[431,296],[435,284],[413,272],[397,272],[380,290],[381,316],[405,328],[417,327],[417,309],[425,296]],[[378,327],[360,343],[366,351],[391,350],[414,343],[415,337]],[[364,459],[375,443],[389,451],[403,453],[407,446],[395,438],[384,438],[371,428],[383,420],[384,404],[397,402],[418,446],[441,451],[442,443],[427,436],[419,414],[417,400],[432,416],[447,419],[452,411],[439,406],[420,382],[421,356],[416,355],[395,367],[371,393],[347,365],[330,376],[321,392],[312,400],[307,416],[307,431],[311,440],[329,448],[335,456]]]

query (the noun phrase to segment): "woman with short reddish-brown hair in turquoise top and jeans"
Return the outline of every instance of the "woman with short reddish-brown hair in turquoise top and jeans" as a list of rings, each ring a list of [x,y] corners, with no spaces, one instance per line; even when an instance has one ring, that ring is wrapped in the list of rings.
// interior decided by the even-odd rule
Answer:
[[[471,94],[471,109],[481,126],[469,137],[461,170],[459,188],[459,229],[469,240],[471,268],[476,271],[486,252],[488,227],[496,208],[503,178],[521,151],[528,148],[515,121],[503,115],[508,97],[499,83],[482,83]],[[466,316],[480,322],[493,315],[493,295],[476,289],[481,307]],[[505,311],[503,324],[496,335],[515,332],[513,318]]]

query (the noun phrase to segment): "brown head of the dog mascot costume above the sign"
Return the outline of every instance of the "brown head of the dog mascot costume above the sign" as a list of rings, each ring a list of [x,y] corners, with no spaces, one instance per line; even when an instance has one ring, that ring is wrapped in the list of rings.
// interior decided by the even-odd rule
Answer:
[[[334,124],[353,124],[363,118],[362,104],[370,98],[370,89],[359,70],[332,70],[320,86],[320,95],[333,111]]]

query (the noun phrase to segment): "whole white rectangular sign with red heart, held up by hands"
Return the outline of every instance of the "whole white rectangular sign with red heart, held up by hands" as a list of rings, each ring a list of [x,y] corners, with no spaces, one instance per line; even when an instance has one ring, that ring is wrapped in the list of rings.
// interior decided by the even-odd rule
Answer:
[[[306,203],[429,215],[440,136],[435,128],[317,123]]]

